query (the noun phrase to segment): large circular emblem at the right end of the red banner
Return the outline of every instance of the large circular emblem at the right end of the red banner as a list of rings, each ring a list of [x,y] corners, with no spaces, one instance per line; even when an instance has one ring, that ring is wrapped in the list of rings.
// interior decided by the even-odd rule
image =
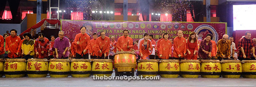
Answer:
[[[205,38],[208,33],[212,34],[212,39],[217,42],[218,41],[218,33],[217,31],[210,25],[203,24],[195,29],[195,33],[198,35],[199,38]]]

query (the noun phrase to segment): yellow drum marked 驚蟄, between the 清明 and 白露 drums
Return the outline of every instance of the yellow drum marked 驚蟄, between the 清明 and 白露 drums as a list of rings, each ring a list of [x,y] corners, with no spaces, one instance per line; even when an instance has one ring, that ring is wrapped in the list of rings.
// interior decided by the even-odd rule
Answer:
[[[27,60],[26,70],[29,77],[46,77],[48,73],[48,60],[30,58]]]

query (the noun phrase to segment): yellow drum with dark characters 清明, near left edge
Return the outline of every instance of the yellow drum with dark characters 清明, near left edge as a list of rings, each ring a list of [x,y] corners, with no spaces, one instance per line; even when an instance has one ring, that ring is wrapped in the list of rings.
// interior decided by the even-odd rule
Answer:
[[[24,77],[26,73],[26,59],[5,59],[5,77]]]

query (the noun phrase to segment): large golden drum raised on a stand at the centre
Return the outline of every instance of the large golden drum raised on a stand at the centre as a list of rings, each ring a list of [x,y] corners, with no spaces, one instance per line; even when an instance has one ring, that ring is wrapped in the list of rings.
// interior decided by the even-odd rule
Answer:
[[[131,72],[136,68],[136,56],[134,52],[117,52],[114,57],[114,68],[118,72]]]

